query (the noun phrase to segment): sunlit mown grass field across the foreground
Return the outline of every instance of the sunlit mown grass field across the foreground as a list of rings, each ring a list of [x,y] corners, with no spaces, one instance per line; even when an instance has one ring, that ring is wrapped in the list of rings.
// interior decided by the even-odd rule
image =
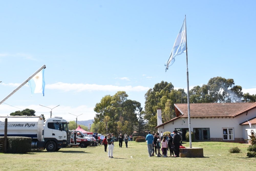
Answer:
[[[183,143],[189,147],[189,143]],[[0,170],[255,170],[256,158],[247,157],[248,144],[225,142],[193,142],[204,148],[203,158],[148,157],[146,143],[128,142],[119,148],[115,142],[113,157],[108,158],[104,146],[62,148],[58,152],[37,151],[27,154],[0,153]],[[228,150],[238,147],[241,153]],[[169,151],[168,155],[169,155]]]

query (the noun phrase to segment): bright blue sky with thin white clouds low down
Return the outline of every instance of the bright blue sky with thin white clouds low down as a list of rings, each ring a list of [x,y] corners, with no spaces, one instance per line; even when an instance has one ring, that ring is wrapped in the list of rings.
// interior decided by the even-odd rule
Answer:
[[[143,107],[147,90],[162,80],[186,91],[186,54],[167,72],[164,66],[185,15],[189,87],[219,76],[255,94],[254,7],[255,1],[1,1],[0,100],[43,65],[46,87],[44,97],[30,97],[23,86],[0,105],[0,115],[29,108],[48,118],[40,105],[60,105],[53,116],[89,120],[95,104],[117,91]]]

